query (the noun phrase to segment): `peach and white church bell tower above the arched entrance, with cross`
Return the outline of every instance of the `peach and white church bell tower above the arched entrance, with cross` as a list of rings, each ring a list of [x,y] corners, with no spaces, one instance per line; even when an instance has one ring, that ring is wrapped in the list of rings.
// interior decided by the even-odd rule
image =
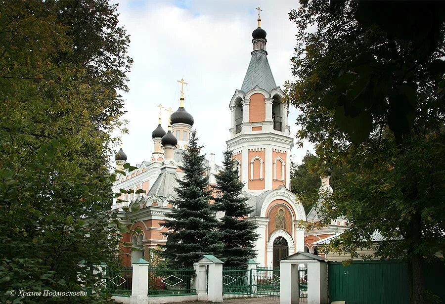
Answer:
[[[229,149],[238,162],[244,190],[260,194],[281,185],[290,187],[290,151],[293,138],[287,116],[289,105],[276,86],[266,51],[266,31],[252,33],[253,51],[241,89],[230,100],[231,128]]]

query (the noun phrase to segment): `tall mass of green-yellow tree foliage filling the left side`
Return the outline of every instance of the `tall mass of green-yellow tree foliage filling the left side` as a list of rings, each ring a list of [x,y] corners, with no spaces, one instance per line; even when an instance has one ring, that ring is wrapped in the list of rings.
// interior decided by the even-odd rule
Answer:
[[[116,5],[105,0],[0,3],[2,303],[105,299],[90,269],[116,260],[107,147],[132,62],[117,23]],[[89,294],[20,298],[10,290]]]

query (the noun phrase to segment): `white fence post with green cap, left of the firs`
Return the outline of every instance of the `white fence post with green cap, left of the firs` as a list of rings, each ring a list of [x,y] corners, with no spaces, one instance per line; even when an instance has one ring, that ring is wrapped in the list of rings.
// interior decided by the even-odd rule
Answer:
[[[131,304],[148,303],[148,269],[150,264],[140,258],[133,264]]]

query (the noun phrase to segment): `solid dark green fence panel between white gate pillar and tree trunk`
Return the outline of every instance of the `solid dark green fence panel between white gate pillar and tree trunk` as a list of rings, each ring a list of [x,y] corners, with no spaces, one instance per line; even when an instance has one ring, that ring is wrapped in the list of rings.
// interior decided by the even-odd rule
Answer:
[[[407,269],[401,261],[328,263],[329,302],[408,304]]]

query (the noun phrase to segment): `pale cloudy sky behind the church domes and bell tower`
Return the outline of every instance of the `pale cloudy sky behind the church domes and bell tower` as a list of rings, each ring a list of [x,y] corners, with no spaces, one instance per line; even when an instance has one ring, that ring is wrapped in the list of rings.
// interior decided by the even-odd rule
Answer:
[[[157,126],[158,108],[179,106],[180,85],[188,82],[185,109],[193,115],[204,153],[215,153],[221,163],[229,138],[228,104],[241,88],[252,51],[252,31],[261,6],[262,28],[267,31],[267,52],[277,85],[293,80],[290,58],[296,45],[295,25],[288,12],[297,0],[119,0],[120,22],[130,35],[130,92],[124,94],[129,134],[123,148],[132,164],[149,160],[153,151],[151,132]],[[295,136],[298,115],[291,107],[289,123]],[[168,113],[162,125],[167,130]],[[312,145],[294,147],[300,163]]]

